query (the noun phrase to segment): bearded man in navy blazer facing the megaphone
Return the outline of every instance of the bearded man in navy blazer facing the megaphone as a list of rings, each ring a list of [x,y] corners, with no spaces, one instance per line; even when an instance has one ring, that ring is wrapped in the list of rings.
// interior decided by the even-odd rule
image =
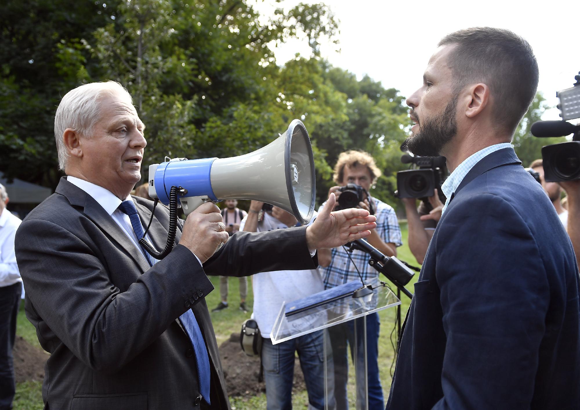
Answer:
[[[445,36],[408,98],[407,145],[443,155],[443,216],[401,337],[387,409],[577,409],[578,267],[510,145],[538,65],[507,30]]]

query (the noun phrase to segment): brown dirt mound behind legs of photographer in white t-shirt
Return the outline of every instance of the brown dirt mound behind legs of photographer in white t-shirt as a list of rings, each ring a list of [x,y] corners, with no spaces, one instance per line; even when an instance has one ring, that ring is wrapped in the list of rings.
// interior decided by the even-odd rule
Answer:
[[[264,382],[258,382],[260,359],[247,356],[240,346],[240,334],[233,333],[230,339],[219,346],[223,375],[226,379],[227,393],[230,396],[255,396],[266,391]],[[298,357],[294,362],[292,391],[306,390]]]

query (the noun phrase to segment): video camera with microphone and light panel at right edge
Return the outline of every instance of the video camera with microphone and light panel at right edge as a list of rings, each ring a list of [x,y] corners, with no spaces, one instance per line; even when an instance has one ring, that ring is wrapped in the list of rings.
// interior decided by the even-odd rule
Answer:
[[[580,179],[580,125],[567,120],[580,118],[580,72],[574,86],[558,91],[561,121],[538,121],[532,124],[534,137],[563,137],[574,134],[572,141],[542,147],[544,180],[559,182]]]

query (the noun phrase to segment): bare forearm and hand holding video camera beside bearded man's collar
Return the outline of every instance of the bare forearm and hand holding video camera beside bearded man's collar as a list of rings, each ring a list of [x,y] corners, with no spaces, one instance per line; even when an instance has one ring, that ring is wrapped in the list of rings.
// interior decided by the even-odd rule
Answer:
[[[443,210],[443,202],[439,199],[437,189],[434,191],[434,195],[429,197],[429,204],[422,201],[418,208],[415,198],[402,199],[407,214],[409,249],[417,262],[421,264],[427,254],[427,247],[429,247],[437,222],[441,219],[441,210]]]

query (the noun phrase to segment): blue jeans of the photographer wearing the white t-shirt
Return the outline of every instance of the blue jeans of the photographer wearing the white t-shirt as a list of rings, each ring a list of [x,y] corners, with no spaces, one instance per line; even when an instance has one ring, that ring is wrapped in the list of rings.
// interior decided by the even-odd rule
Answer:
[[[308,391],[309,409],[324,410],[324,336],[322,331],[272,345],[264,339],[262,364],[266,382],[267,410],[292,409],[294,354],[298,352],[300,368]]]

